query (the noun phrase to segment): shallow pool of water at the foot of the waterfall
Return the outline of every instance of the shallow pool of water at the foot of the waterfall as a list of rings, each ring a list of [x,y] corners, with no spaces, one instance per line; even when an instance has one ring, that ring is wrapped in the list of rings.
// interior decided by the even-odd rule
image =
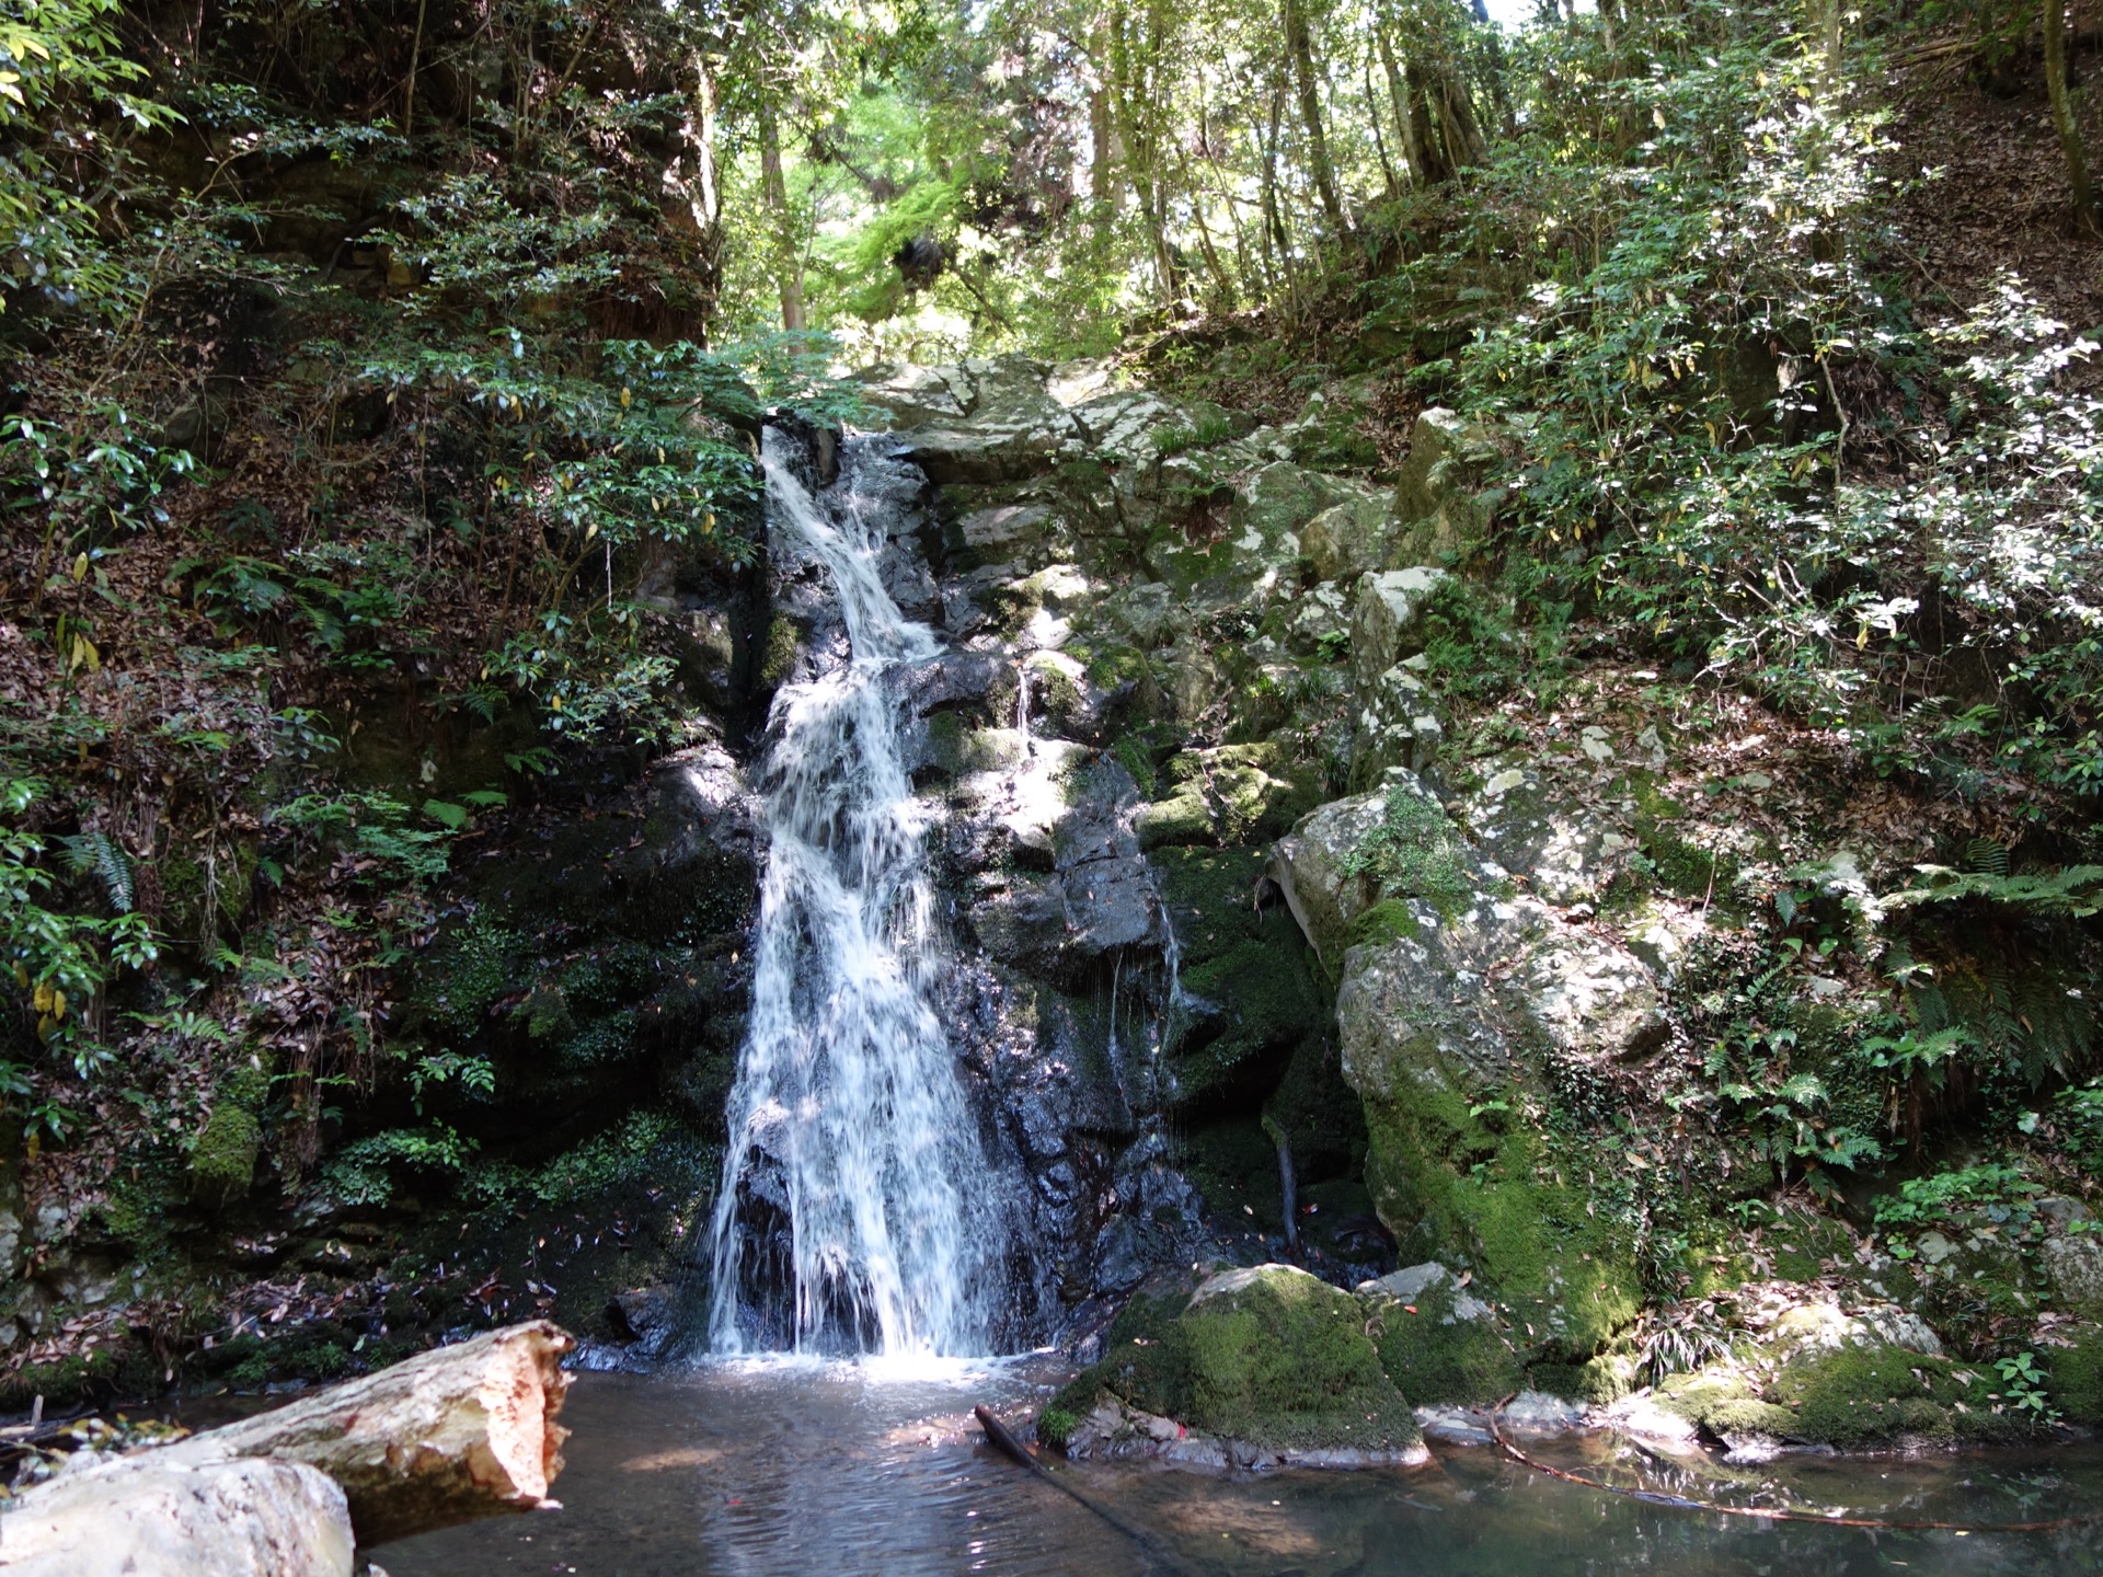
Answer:
[[[1218,1480],[1148,1468],[1064,1470],[1129,1522],[1148,1556],[978,1445],[974,1400],[1022,1407],[1028,1365],[873,1373],[858,1365],[717,1365],[580,1375],[557,1493],[566,1510],[496,1518],[379,1552],[393,1577],[1971,1577],[2103,1571],[2103,1529],[1891,1533],[1727,1518],[1600,1495],[1489,1451],[1413,1474]],[[1588,1438],[1558,1466],[1666,1487],[1659,1463]],[[1706,1482],[1703,1482],[1706,1480]],[[1888,1518],[2010,1522],[2103,1510],[2103,1449],[1922,1461],[1796,1459],[1697,1470],[1676,1493],[1838,1506]]]

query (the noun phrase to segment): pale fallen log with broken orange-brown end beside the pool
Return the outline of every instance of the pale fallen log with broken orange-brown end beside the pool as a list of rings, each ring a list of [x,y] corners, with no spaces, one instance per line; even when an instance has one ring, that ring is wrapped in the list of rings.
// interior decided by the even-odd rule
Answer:
[[[217,1497],[198,1489],[183,1499],[168,1484],[175,1482],[170,1474],[210,1478],[208,1470],[252,1459],[324,1474],[341,1489],[360,1545],[406,1539],[496,1512],[555,1506],[547,1491],[562,1472],[562,1442],[568,1438],[555,1415],[570,1388],[562,1354],[572,1346],[547,1320],[488,1331],[330,1386],[271,1413],[63,1474],[0,1512],[0,1571],[11,1571],[17,1548],[25,1548],[32,1529],[40,1529],[40,1539],[48,1527],[50,1539],[74,1537],[80,1550],[93,1548],[109,1510],[139,1495],[154,1506],[175,1495],[189,1522],[210,1520],[200,1506],[219,1506],[227,1516],[225,1548],[244,1548],[250,1529],[242,1522],[252,1518],[238,1508],[248,1493],[242,1489],[250,1484],[248,1478],[227,1480],[240,1493]],[[158,1478],[147,1480],[147,1474]],[[200,1478],[198,1484],[202,1482]],[[162,1501],[154,1501],[156,1495]],[[158,1514],[141,1512],[147,1520]],[[200,1552],[200,1564],[151,1571],[240,1571],[236,1564],[212,1564],[219,1548],[215,1541],[196,1543],[187,1533],[185,1541]],[[286,1560],[275,1571],[332,1577],[334,1566]]]

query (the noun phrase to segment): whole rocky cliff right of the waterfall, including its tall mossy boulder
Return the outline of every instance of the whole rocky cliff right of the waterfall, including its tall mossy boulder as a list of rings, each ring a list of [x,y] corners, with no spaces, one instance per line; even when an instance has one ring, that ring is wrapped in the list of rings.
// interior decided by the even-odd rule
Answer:
[[[1268,1177],[1283,1209],[1266,1117],[1312,1167],[1295,1182],[1365,1167],[1405,1251],[1502,1281],[1483,1297],[1525,1299],[1520,1348],[1586,1360],[1634,1310],[1628,1249],[1565,1220],[1577,1190],[1483,1196],[1485,1150],[1533,1165],[1523,1123],[1470,1112],[1640,1060],[1663,1018],[1649,965],[1563,910],[1613,849],[1510,784],[1459,820],[1428,786],[1426,610],[1451,582],[1428,559],[1487,528],[1493,439],[1426,412],[1388,492],[1316,469],[1363,389],[1245,431],[1014,357],[862,381],[934,484],[917,542],[951,654],[911,681],[913,770],[942,816],[961,1049],[1026,1156],[1045,1295],[1188,1264],[1178,1165],[1222,1199]],[[1323,805],[1344,786],[1369,793]]]

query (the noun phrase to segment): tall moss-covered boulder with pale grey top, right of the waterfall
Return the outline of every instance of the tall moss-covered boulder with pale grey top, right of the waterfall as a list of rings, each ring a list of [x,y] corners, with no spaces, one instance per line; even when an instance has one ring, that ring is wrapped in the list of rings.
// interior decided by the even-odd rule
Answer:
[[[1663,1041],[1649,969],[1514,894],[1407,772],[1302,820],[1272,875],[1340,976],[1365,1177],[1403,1257],[1474,1272],[1544,1390],[1596,1390],[1584,1365],[1640,1302],[1632,1234],[1529,1112]]]

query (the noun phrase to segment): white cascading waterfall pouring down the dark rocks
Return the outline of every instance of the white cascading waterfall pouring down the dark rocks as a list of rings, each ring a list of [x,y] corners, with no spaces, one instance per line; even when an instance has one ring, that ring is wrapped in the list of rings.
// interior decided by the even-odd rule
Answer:
[[[866,517],[877,511],[848,486],[829,515],[774,429],[763,463],[774,540],[824,566],[850,656],[784,685],[770,717],[768,862],[709,1335],[717,1352],[740,1352],[740,1320],[761,1314],[799,1352],[984,1352],[980,1295],[1003,1257],[1001,1213],[976,1182],[986,1163],[934,1007],[930,810],[913,795],[887,683],[940,646],[883,589],[885,534]],[[778,1287],[751,1287],[761,1228],[740,1220],[742,1196],[770,1207]],[[791,1289],[787,1331],[740,1308],[744,1291]]]

